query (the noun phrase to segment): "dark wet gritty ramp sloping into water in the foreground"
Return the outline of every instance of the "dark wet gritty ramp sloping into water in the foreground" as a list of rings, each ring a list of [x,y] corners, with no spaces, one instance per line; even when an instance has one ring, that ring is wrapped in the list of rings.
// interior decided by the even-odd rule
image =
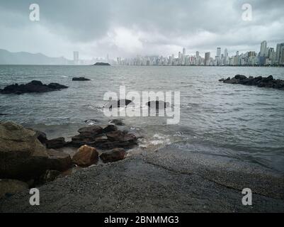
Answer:
[[[178,145],[129,155],[43,185],[40,206],[28,191],[0,199],[0,212],[284,212],[282,174],[206,156]],[[247,187],[253,206],[242,205]]]

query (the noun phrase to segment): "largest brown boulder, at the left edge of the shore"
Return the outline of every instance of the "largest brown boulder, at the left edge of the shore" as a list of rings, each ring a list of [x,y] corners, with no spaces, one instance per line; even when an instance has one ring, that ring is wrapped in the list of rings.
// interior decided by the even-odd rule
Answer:
[[[68,170],[69,155],[47,150],[34,131],[0,123],[0,179],[36,179],[46,170]]]

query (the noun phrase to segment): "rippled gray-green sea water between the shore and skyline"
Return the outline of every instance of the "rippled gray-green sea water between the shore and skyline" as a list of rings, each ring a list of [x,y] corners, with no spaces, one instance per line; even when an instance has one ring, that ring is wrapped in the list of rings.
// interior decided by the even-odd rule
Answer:
[[[169,126],[165,118],[125,117],[124,128],[141,135],[140,148],[156,150],[183,141],[188,152],[229,157],[284,172],[284,92],[218,82],[235,74],[273,75],[277,67],[92,67],[0,65],[0,88],[33,79],[69,86],[45,94],[0,94],[0,121],[16,121],[45,131],[49,138],[67,140],[96,120],[107,124],[103,96],[131,91],[181,92],[181,121]],[[72,82],[87,77],[90,82]],[[142,108],[144,108],[142,106]]]

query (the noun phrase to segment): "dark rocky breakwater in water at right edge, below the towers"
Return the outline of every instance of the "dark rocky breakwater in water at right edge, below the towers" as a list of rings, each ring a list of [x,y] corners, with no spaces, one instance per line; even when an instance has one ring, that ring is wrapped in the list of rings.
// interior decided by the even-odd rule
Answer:
[[[273,89],[280,89],[284,91],[284,80],[274,79],[269,77],[246,77],[244,75],[236,75],[234,78],[220,79],[220,82],[225,84],[243,84],[248,86],[267,87]]]

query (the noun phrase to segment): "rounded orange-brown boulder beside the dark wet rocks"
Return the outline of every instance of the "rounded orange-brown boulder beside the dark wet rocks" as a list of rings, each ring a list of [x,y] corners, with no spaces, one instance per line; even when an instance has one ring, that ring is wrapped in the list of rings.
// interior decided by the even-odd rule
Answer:
[[[98,162],[98,151],[96,148],[91,148],[87,145],[81,146],[78,153],[73,156],[72,161],[79,167],[89,167]]]

